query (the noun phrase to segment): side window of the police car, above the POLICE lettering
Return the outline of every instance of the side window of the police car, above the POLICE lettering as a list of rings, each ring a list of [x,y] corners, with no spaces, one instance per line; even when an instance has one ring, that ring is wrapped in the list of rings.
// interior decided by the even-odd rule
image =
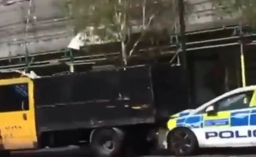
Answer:
[[[216,102],[218,111],[248,108],[253,91],[246,91],[231,95]]]

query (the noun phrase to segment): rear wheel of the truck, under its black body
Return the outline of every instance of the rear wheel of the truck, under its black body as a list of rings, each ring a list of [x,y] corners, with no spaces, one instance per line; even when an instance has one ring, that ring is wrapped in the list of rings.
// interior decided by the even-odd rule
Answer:
[[[113,129],[95,130],[91,138],[92,150],[98,156],[113,157],[120,155],[123,146],[123,134]]]

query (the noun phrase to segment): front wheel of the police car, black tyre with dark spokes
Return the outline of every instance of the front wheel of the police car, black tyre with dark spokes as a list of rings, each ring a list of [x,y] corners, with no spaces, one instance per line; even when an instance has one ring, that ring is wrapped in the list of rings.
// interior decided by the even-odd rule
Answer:
[[[195,134],[180,127],[170,132],[168,136],[168,151],[175,156],[190,156],[198,149],[198,140]]]

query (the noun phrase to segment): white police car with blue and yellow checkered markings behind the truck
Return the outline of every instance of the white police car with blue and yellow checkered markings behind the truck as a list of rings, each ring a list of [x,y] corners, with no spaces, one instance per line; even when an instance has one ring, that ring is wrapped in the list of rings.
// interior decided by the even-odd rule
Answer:
[[[167,143],[176,156],[191,155],[198,148],[256,146],[256,85],[171,116]]]

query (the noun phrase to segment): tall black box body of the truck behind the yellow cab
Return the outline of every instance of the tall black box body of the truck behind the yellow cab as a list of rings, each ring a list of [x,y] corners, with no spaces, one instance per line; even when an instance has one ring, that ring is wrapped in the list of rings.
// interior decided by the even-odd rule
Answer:
[[[156,124],[186,109],[181,67],[140,65],[34,80],[38,133]]]

